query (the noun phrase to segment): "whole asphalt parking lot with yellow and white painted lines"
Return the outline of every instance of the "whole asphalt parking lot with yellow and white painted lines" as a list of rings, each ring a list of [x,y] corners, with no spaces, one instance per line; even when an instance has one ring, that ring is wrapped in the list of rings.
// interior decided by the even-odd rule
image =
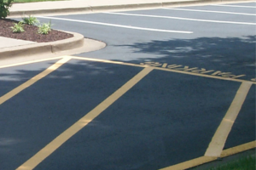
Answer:
[[[0,67],[1,167],[179,169],[253,148],[255,15],[234,3],[41,17],[108,46]]]

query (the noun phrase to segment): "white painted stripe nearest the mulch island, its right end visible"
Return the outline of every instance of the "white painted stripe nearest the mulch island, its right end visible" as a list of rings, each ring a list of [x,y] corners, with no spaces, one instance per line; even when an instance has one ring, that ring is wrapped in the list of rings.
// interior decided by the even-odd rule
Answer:
[[[135,29],[135,30],[145,30],[145,31],[160,31],[160,32],[183,33],[183,34],[193,33],[192,31],[160,30],[160,29],[144,28],[144,27],[137,27],[137,26],[124,26],[124,25],[108,24],[108,23],[104,23],[104,22],[94,22],[94,21],[88,21],[88,20],[71,20],[71,19],[62,19],[62,18],[46,17],[46,16],[38,16],[38,18],[52,19],[52,20],[67,20],[67,21],[72,21],[72,22],[82,22],[82,23],[102,25],[102,26],[115,26],[115,27],[130,28],[130,29]]]

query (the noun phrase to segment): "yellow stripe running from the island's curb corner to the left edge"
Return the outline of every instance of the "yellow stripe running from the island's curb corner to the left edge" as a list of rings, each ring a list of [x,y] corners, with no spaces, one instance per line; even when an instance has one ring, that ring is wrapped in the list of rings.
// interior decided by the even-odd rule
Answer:
[[[48,69],[46,69],[45,71],[39,73],[37,76],[32,77],[32,79],[24,82],[23,84],[21,84],[19,87],[13,89],[12,91],[10,91],[7,94],[4,94],[1,98],[0,98],[0,105],[2,105],[5,101],[7,101],[8,99],[11,99],[12,97],[14,97],[16,94],[19,94],[22,90],[30,87],[33,83],[38,82],[38,80],[46,77],[47,75],[49,75],[49,73],[51,73],[52,71],[55,71],[56,69],[58,69],[61,65],[63,65],[64,63],[66,63],[69,59],[71,59],[71,57],[65,57],[61,60],[59,60],[58,62],[56,62],[54,65],[49,66]]]

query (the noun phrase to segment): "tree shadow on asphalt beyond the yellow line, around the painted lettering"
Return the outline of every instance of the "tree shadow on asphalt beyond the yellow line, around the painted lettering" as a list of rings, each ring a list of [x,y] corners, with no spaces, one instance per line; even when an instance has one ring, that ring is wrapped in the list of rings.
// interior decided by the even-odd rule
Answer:
[[[238,37],[199,37],[195,39],[169,39],[165,41],[137,42],[119,45],[128,47],[134,54],[148,54],[146,58],[129,62],[155,61],[160,63],[189,65],[245,74],[255,77],[256,36]]]

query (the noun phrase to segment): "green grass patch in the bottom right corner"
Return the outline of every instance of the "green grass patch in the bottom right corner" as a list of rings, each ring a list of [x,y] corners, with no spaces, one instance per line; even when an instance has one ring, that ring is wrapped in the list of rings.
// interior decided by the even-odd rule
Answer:
[[[244,156],[235,161],[230,161],[218,167],[212,167],[208,170],[255,170],[255,156]]]

